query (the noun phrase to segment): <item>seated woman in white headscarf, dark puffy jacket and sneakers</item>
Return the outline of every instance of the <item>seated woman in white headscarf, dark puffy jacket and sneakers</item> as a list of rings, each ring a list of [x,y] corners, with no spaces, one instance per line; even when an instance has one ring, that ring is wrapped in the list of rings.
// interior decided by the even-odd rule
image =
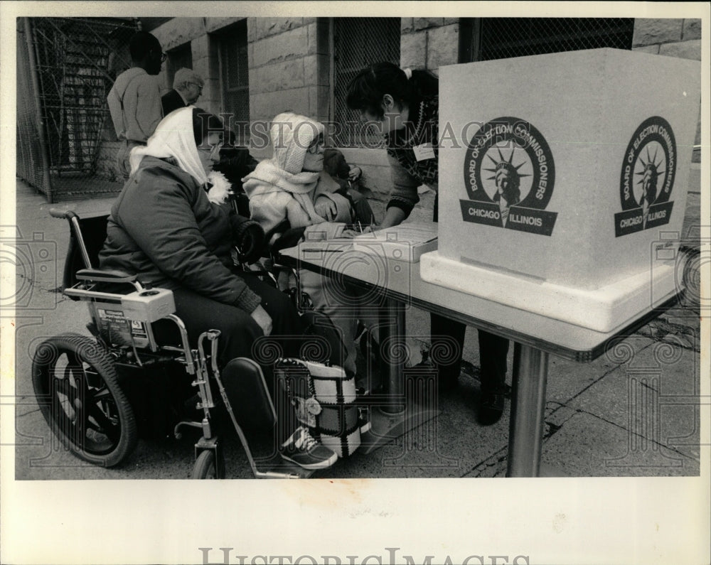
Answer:
[[[247,235],[252,247],[261,249],[262,229],[208,198],[222,132],[215,115],[181,108],[159,124],[146,146],[132,151],[131,176],[112,206],[100,264],[171,289],[176,314],[193,342],[205,330],[220,330],[223,366],[234,357],[254,357],[253,345],[267,335],[284,355],[294,356],[300,345],[294,336],[304,328],[289,298],[233,268],[232,242]],[[159,324],[154,331],[162,340],[167,328]],[[262,369],[272,383],[270,367]],[[282,409],[277,415],[282,456],[304,468],[331,466],[336,454],[316,443],[307,429],[296,428],[288,402],[275,404]]]

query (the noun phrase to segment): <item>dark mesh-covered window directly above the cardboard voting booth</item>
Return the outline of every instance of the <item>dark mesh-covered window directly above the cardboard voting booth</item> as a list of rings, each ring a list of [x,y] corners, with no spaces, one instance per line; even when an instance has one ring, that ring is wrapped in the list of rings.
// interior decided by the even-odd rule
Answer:
[[[581,49],[631,49],[634,18],[481,18],[472,60]],[[478,51],[478,53],[477,53]]]

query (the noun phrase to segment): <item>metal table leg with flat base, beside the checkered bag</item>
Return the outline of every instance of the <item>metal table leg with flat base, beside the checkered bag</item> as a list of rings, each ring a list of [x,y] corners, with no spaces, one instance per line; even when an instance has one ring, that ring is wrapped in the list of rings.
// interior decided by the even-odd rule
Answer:
[[[380,313],[380,343],[387,344],[389,353],[383,353],[387,367],[387,396],[373,397],[370,404],[372,427],[361,438],[361,451],[370,453],[386,443],[424,424],[439,414],[436,396],[423,398],[418,404],[405,390],[405,307],[387,299],[385,308]],[[434,393],[434,385],[432,390]]]

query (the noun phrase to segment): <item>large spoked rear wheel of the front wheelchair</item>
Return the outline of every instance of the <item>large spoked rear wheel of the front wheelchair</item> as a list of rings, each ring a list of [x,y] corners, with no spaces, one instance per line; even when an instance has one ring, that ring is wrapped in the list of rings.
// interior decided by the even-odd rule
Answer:
[[[75,456],[114,467],[136,447],[134,411],[111,357],[94,340],[66,334],[43,341],[32,384],[50,429]]]

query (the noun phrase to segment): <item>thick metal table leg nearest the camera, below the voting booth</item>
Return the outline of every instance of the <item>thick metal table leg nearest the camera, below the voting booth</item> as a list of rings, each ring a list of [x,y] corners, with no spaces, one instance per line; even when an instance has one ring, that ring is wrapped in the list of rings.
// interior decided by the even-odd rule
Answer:
[[[547,353],[515,343],[507,477],[538,477],[547,373]]]

